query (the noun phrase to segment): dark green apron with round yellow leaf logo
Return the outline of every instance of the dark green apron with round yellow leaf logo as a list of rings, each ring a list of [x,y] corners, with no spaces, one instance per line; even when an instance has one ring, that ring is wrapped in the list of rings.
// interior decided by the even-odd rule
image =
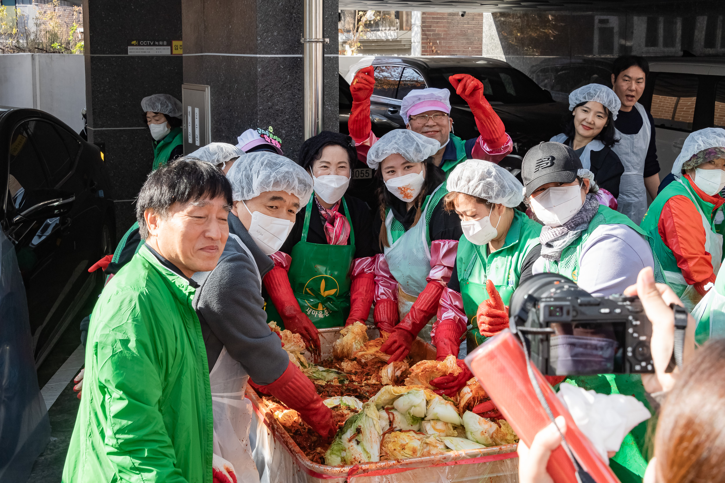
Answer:
[[[292,263],[289,266],[289,285],[297,298],[299,308],[310,317],[318,329],[341,327],[350,312],[350,266],[355,255],[355,232],[352,229],[347,202],[342,198],[345,216],[350,224],[349,245],[322,245],[307,241],[315,193],[305,209],[302,240],[292,247]],[[319,215],[318,215],[319,216]],[[268,298],[265,303],[267,322],[275,321],[283,329],[281,316]]]

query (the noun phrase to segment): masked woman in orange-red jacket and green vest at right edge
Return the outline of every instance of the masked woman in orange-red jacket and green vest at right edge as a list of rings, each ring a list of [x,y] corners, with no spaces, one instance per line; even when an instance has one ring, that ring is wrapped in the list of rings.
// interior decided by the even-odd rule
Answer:
[[[655,239],[667,285],[692,311],[722,262],[725,130],[708,127],[687,136],[672,174],[676,180],[655,198],[641,226]]]

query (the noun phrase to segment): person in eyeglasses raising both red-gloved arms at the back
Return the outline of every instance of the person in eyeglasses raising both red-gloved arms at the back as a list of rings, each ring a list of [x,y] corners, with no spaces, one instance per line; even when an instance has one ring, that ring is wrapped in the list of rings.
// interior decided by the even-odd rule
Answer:
[[[441,147],[433,155],[432,164],[446,174],[466,159],[498,163],[511,152],[513,143],[500,117],[486,101],[483,83],[468,74],[452,75],[449,80],[455,93],[471,108],[481,135],[463,140],[453,134],[448,89],[414,89],[407,93],[400,106],[400,116],[405,120],[405,127],[439,142]],[[378,140],[370,125],[370,96],[374,85],[372,66],[357,72],[350,84],[352,111],[347,126],[360,156],[365,156],[370,146]]]

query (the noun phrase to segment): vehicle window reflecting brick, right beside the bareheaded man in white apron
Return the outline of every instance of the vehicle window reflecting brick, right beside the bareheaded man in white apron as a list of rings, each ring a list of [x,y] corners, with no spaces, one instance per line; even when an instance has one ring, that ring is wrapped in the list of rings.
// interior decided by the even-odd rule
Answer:
[[[660,72],[655,77],[650,108],[655,125],[692,130],[697,83],[697,75]]]

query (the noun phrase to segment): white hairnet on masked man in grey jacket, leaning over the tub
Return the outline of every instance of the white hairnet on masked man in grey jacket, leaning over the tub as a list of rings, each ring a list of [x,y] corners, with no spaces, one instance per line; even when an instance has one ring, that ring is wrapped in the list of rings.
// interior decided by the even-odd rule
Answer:
[[[312,177],[291,159],[268,151],[244,155],[227,173],[234,201],[251,200],[265,191],[284,191],[304,205],[312,195]]]

